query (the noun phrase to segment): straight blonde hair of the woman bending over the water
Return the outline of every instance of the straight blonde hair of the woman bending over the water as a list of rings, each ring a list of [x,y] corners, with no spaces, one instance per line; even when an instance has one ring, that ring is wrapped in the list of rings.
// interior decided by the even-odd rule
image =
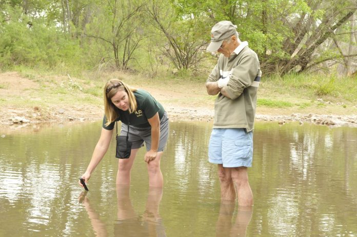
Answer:
[[[108,126],[112,122],[116,121],[119,117],[119,114],[116,112],[117,108],[112,103],[111,98],[116,94],[116,92],[124,90],[128,94],[129,99],[129,113],[133,113],[137,109],[136,98],[134,91],[137,89],[130,88],[123,81],[118,79],[109,80],[104,86],[104,113],[107,117],[107,123],[105,126]]]

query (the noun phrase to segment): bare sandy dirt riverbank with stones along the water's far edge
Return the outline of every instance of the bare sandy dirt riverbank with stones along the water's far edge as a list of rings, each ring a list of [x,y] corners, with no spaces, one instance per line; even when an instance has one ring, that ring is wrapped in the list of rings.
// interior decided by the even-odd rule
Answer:
[[[71,79],[73,88],[70,89],[73,93],[64,93],[64,90],[69,89],[68,80],[66,76],[53,76],[44,83],[38,78],[28,78],[17,72],[0,73],[0,131],[33,124],[101,120],[102,97],[84,92],[86,88],[95,85],[83,83],[81,80],[76,80],[74,84],[74,80]],[[75,91],[73,85],[83,88]],[[130,82],[130,85],[149,91],[163,104],[171,121],[213,121],[214,101],[205,94],[204,86],[197,88],[197,84],[192,83],[180,85],[181,88],[170,85],[158,87],[155,83],[145,83],[143,86],[142,82],[135,81]],[[333,108],[339,105],[321,101],[320,103],[326,103],[321,111],[316,108],[294,110],[294,108],[272,109],[259,106],[256,120],[273,121],[282,125],[296,121],[327,126],[357,127],[355,106],[350,112],[334,114]]]

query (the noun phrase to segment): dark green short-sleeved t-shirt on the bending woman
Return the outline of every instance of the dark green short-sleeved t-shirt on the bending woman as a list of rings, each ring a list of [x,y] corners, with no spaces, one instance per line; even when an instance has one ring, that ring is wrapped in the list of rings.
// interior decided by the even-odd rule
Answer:
[[[157,112],[160,119],[163,117],[165,112],[164,107],[160,103],[158,103],[149,92],[138,89],[133,93],[137,103],[136,111],[130,114],[129,110],[123,111],[121,109],[116,108],[116,112],[119,115],[116,121],[122,121],[122,123],[129,124],[134,127],[146,128],[150,127],[148,118],[153,117]],[[107,130],[112,130],[116,121],[112,122],[108,126],[105,126],[105,124],[107,123],[107,117],[104,115],[103,128]]]

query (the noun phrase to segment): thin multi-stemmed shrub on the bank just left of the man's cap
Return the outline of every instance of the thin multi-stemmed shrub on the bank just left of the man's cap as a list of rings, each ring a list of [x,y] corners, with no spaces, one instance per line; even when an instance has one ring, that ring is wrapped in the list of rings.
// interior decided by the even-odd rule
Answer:
[[[204,59],[207,26],[190,15],[177,15],[166,1],[152,1],[147,4],[147,13],[153,19],[153,26],[166,38],[157,45],[162,54],[178,69],[199,69]]]

